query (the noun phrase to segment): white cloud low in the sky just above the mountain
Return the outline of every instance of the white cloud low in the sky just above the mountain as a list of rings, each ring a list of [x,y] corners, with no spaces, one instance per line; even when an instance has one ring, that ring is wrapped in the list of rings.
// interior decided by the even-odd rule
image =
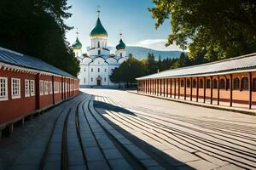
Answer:
[[[146,39],[140,42],[136,42],[134,44],[131,44],[131,46],[139,46],[143,48],[152,48],[156,50],[161,50],[161,51],[183,51],[181,48],[179,48],[177,45],[172,44],[168,47],[166,47],[166,39]]]

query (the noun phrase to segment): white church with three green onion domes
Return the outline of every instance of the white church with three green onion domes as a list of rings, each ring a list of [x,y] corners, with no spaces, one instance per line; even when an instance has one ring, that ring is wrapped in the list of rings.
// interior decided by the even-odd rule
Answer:
[[[120,34],[121,36],[121,34]],[[108,32],[102,26],[100,20],[100,11],[96,25],[90,31],[90,48],[87,49],[87,55],[82,55],[82,44],[77,36],[73,43],[73,50],[80,60],[80,88],[106,87],[118,88],[119,84],[110,81],[109,76],[114,68],[124,62],[126,58],[125,43],[122,38],[116,46],[115,55],[110,54],[108,49]]]

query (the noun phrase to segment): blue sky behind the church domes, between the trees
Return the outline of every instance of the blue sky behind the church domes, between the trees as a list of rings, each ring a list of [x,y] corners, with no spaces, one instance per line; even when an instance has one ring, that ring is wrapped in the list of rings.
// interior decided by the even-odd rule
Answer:
[[[89,34],[96,23],[98,6],[102,25],[108,31],[108,46],[115,47],[119,42],[119,33],[122,32],[126,45],[180,50],[176,45],[165,47],[166,37],[172,29],[170,20],[155,29],[155,21],[148,11],[148,8],[154,7],[152,0],[68,0],[67,3],[72,5],[68,12],[73,15],[66,20],[66,24],[75,28],[67,31],[67,41],[73,44],[78,28],[83,52],[90,45]]]

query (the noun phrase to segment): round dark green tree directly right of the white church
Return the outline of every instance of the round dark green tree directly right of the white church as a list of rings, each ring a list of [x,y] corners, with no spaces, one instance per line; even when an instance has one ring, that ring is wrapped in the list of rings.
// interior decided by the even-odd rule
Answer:
[[[146,75],[146,67],[143,62],[133,57],[125,60],[119,68],[115,68],[110,76],[111,82],[119,83],[125,82],[129,87],[129,83],[135,83],[137,77]]]

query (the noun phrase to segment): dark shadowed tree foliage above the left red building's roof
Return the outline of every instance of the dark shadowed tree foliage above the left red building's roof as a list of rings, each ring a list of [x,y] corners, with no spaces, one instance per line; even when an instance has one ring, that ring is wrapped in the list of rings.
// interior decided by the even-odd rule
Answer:
[[[43,59],[73,76],[79,72],[65,31],[67,0],[2,0],[0,5],[0,46]]]

